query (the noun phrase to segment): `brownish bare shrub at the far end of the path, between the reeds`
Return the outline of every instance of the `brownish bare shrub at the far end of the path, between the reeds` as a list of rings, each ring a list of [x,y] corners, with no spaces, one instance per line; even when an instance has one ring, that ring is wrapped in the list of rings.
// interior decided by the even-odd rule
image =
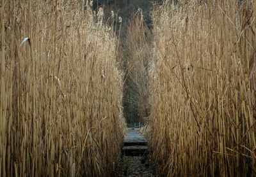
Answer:
[[[143,122],[149,115],[148,106],[148,66],[150,62],[151,46],[150,31],[145,25],[143,11],[138,9],[129,25],[127,25],[124,41],[124,55],[126,64],[125,97],[124,102],[129,106],[127,110],[133,111],[127,115],[135,122]],[[130,116],[130,117],[129,117]],[[138,116],[136,118],[136,116]]]

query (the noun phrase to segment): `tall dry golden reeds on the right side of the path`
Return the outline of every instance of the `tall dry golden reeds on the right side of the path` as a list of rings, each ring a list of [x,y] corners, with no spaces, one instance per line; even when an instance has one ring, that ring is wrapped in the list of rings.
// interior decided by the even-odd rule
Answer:
[[[158,176],[256,176],[255,1],[154,8],[148,143]]]

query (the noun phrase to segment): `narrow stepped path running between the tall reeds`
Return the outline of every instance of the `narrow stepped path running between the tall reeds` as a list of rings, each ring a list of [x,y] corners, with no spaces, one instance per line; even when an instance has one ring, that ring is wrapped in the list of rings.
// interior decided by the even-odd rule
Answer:
[[[127,129],[122,149],[122,176],[153,176],[148,156],[145,137],[138,129]]]

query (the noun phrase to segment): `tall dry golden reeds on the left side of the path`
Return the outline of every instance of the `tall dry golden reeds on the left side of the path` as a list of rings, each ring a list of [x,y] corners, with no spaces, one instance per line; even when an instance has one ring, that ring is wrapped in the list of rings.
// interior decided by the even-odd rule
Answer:
[[[122,73],[103,11],[1,1],[0,176],[114,176]]]

